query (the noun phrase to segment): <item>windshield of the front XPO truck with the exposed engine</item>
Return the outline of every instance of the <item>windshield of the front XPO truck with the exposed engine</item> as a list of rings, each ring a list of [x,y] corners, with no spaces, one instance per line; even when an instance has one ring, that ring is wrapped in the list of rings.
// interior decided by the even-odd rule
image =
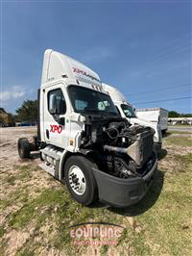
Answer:
[[[69,97],[75,112],[118,115],[111,98],[100,91],[70,86]]]

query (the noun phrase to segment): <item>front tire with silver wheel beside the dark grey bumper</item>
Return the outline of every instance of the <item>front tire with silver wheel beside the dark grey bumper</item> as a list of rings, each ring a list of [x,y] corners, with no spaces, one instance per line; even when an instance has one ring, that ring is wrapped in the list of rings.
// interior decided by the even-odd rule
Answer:
[[[64,166],[68,191],[76,201],[84,205],[90,205],[98,197],[97,183],[91,170],[93,166],[96,167],[90,160],[79,155],[69,157]]]

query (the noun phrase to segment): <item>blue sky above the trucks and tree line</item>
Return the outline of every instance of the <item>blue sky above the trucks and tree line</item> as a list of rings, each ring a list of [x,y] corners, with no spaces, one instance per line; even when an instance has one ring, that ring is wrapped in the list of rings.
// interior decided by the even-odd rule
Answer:
[[[191,36],[184,0],[1,1],[0,105],[14,114],[36,99],[51,48],[92,68],[136,108],[192,113]]]

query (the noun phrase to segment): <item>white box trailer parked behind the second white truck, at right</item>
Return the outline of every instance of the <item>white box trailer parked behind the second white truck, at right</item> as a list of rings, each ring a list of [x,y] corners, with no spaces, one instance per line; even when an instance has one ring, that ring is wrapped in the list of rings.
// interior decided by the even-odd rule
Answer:
[[[140,118],[158,124],[162,134],[166,133],[169,112],[162,108],[136,109],[136,115]]]

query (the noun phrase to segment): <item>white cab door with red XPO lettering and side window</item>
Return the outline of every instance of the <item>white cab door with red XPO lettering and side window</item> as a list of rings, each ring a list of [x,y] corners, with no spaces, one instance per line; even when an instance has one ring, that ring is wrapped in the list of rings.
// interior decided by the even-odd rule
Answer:
[[[44,90],[44,133],[48,144],[66,148],[69,135],[66,95],[61,85],[51,86]]]

